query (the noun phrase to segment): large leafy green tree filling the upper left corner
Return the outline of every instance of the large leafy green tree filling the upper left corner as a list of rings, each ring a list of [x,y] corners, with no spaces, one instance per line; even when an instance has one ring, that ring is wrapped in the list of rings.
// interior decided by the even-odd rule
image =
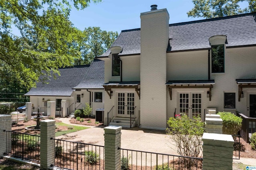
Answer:
[[[76,9],[86,8],[89,2],[73,0]],[[12,72],[8,79],[16,78],[30,88],[40,76],[50,76],[51,70],[55,74],[58,68],[74,64],[74,58],[80,57],[74,42],[81,31],[68,19],[70,8],[68,0],[1,0],[0,77]],[[14,28],[20,36],[12,33]]]

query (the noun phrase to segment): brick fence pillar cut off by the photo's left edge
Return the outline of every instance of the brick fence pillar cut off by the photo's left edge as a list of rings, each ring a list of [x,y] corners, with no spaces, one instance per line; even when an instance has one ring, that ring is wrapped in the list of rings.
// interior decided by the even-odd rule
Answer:
[[[10,150],[11,147],[11,135],[6,136],[6,131],[12,130],[12,117],[11,115],[0,115],[0,157],[4,156],[4,153],[6,151]],[[7,138],[8,137],[8,138]],[[8,145],[6,145],[6,142],[9,142]]]

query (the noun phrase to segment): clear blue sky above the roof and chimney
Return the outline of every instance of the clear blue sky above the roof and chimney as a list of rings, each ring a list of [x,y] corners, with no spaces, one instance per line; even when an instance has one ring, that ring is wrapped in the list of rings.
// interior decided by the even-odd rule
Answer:
[[[90,3],[84,10],[72,8],[70,21],[80,30],[100,27],[119,34],[122,30],[140,28],[140,13],[150,11],[152,4],[156,4],[158,10],[168,10],[169,23],[204,19],[188,18],[187,12],[194,7],[192,0],[102,0],[98,4]],[[246,2],[240,3],[241,8],[246,5]]]

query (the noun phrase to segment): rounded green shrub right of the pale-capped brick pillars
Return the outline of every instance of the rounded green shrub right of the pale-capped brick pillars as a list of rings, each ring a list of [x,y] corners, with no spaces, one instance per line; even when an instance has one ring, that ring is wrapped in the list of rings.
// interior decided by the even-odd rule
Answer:
[[[222,133],[227,135],[236,135],[242,127],[242,118],[231,112],[218,112],[222,119]]]

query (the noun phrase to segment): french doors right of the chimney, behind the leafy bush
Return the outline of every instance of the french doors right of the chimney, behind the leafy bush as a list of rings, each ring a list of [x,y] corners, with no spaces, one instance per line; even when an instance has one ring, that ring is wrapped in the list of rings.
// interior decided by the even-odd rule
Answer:
[[[190,119],[202,114],[202,94],[198,92],[178,93],[178,111],[186,113]]]

